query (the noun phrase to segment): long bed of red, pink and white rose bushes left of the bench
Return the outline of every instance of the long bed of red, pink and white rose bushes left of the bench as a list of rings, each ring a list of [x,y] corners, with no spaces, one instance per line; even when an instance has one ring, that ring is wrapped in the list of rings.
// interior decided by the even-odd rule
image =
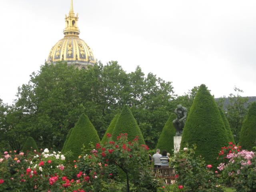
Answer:
[[[148,168],[148,146],[139,144],[137,137],[128,142],[127,134],[104,146],[96,144],[72,162],[48,149],[26,156],[4,152],[0,173],[1,192],[114,192],[125,190],[126,184],[127,191],[154,192],[158,187]]]

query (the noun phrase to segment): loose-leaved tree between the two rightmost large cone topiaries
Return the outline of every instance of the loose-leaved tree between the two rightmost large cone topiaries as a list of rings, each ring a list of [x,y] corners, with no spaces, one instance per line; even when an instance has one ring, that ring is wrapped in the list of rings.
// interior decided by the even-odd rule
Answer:
[[[244,117],[247,113],[245,104],[248,102],[248,98],[240,96],[239,93],[242,93],[243,90],[235,87],[234,91],[236,94],[231,93],[228,96],[229,104],[227,106],[227,119],[234,135],[234,140],[238,143],[242,122],[244,121]]]

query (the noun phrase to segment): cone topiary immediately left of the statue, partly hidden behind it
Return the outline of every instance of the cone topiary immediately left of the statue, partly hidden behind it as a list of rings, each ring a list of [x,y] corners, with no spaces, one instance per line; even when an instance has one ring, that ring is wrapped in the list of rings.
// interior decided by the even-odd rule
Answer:
[[[162,133],[156,145],[156,148],[160,149],[160,151],[166,150],[168,153],[173,154],[173,151],[172,151],[174,149],[173,137],[176,134],[176,129],[173,126],[172,121],[176,118],[177,118],[176,115],[172,113],[168,118],[166,124],[164,125]]]

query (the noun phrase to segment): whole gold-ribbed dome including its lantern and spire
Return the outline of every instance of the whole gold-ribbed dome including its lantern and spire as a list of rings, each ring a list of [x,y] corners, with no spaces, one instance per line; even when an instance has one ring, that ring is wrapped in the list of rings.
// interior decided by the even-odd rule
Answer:
[[[65,17],[65,21],[64,38],[52,47],[47,63],[56,64],[58,61],[66,61],[68,66],[75,65],[80,69],[87,68],[88,65],[94,65],[96,59],[92,50],[84,40],[79,38],[78,14],[76,16],[74,14],[73,0],[71,0],[70,12]]]

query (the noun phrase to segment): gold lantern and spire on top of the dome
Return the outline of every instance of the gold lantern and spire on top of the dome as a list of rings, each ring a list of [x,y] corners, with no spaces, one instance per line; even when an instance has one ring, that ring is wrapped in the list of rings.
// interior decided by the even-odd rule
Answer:
[[[78,28],[78,14],[74,13],[73,0],[70,1],[70,11],[68,16],[65,16],[66,28],[63,30],[63,33],[66,36],[79,36],[80,30]]]

